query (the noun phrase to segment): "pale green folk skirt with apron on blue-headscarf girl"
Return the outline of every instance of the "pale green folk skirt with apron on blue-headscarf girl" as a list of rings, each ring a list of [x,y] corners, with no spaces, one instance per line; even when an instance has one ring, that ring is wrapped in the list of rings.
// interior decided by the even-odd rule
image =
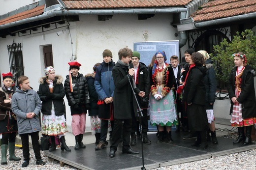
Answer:
[[[158,90],[158,94],[161,94],[160,90]],[[170,90],[160,100],[156,100],[152,94],[150,95],[150,124],[152,126],[175,126],[179,124],[173,90]]]

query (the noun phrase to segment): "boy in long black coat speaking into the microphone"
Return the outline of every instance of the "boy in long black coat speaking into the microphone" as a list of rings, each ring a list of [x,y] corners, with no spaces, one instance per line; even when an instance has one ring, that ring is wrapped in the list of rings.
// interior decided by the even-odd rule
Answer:
[[[114,79],[114,129],[112,132],[112,141],[110,146],[109,157],[115,157],[115,152],[123,132],[123,153],[139,154],[130,148],[130,134],[132,119],[131,114],[137,114],[137,104],[133,95],[132,88],[140,97],[145,96],[144,91],[140,91],[134,84],[132,76],[134,68],[129,67],[132,51],[129,48],[119,50],[119,60],[112,69]],[[132,87],[129,83],[132,84]]]

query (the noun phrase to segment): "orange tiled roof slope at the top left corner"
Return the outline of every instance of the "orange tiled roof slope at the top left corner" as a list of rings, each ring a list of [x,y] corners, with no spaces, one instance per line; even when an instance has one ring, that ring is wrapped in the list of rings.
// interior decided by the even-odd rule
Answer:
[[[26,18],[31,18],[34,16],[41,15],[41,14],[43,14],[43,10],[44,10],[44,5],[37,6],[31,10],[27,10],[27,11],[24,11],[24,12],[21,12],[21,13],[18,13],[18,14],[15,14],[15,15],[12,15],[10,17],[0,20],[0,25],[12,23],[15,21],[19,21],[19,20],[23,20]]]

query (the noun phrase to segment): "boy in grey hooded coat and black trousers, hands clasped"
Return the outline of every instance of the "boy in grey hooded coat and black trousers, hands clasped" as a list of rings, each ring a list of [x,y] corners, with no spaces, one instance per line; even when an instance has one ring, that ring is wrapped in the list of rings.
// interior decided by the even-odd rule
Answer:
[[[40,144],[38,132],[41,131],[39,113],[41,111],[41,100],[30,87],[27,76],[18,78],[19,88],[12,96],[11,109],[16,114],[18,132],[22,141],[24,163],[22,167],[30,164],[29,136],[32,139],[32,147],[35,154],[36,165],[45,165],[40,155]]]

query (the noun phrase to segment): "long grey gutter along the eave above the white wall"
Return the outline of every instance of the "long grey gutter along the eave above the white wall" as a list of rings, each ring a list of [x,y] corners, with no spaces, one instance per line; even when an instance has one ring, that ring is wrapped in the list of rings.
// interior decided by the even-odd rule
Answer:
[[[47,18],[52,18],[55,16],[181,13],[181,12],[186,12],[187,10],[188,10],[187,8],[118,9],[118,10],[54,10],[50,12],[44,12],[42,15],[38,15],[35,17],[26,18],[24,20],[1,25],[0,29],[15,27],[22,24],[27,24],[35,21],[44,20]]]

